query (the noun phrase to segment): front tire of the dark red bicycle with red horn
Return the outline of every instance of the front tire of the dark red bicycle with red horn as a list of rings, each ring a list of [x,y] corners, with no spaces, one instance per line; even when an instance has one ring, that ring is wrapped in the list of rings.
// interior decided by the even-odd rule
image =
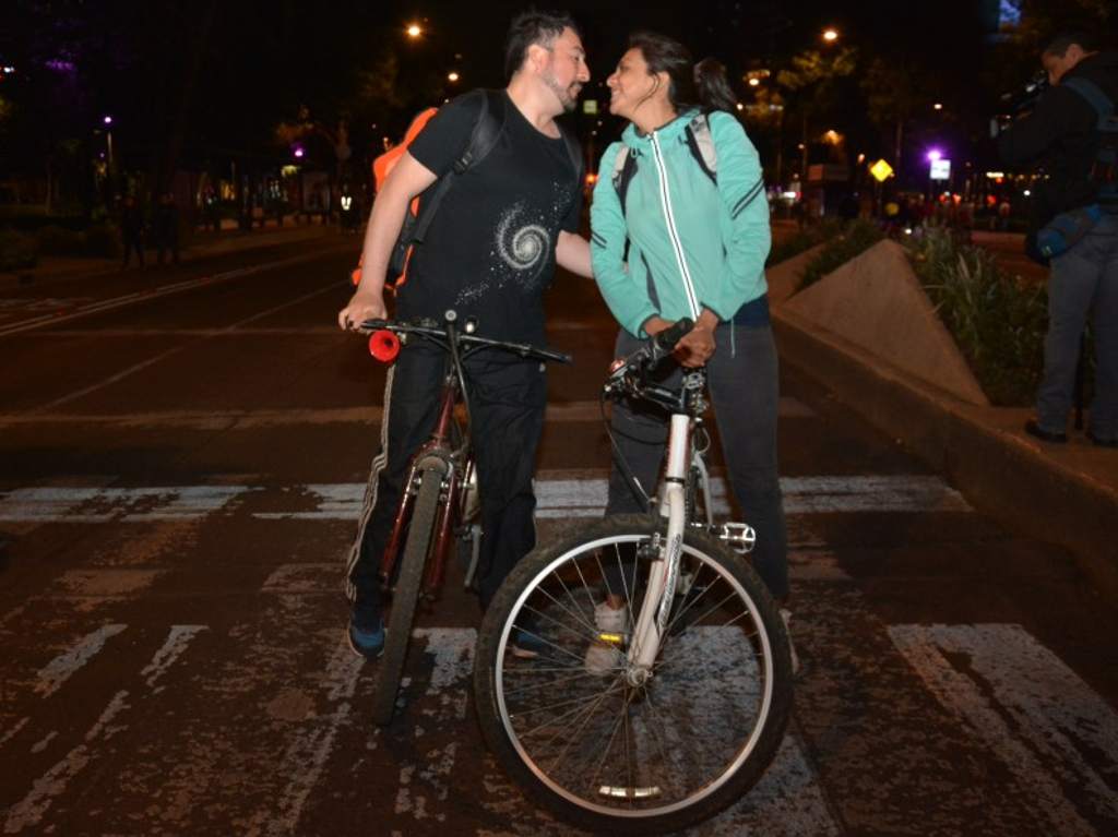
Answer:
[[[420,470],[419,476],[419,492],[411,508],[411,522],[392,593],[392,608],[388,615],[385,653],[379,660],[377,682],[372,688],[372,720],[378,726],[389,723],[396,708],[396,693],[400,687],[404,662],[408,655],[416,603],[423,587],[427,552],[438,513],[442,473],[435,467],[428,467]]]

